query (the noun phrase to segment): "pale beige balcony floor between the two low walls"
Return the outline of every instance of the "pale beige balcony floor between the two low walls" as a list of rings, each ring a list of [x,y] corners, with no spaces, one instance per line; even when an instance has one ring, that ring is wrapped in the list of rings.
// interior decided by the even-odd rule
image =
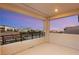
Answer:
[[[44,43],[27,49],[16,55],[78,55],[79,50],[61,46],[58,44]]]

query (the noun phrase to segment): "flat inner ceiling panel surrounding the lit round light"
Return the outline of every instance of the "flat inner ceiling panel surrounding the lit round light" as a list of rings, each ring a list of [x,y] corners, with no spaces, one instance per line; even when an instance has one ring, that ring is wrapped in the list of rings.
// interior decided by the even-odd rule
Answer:
[[[56,3],[35,3],[35,4],[24,4],[25,6],[32,7],[36,10],[39,10],[41,13],[47,16],[53,16],[64,12],[69,12],[72,10],[79,9],[79,4],[56,4]],[[55,9],[58,9],[59,12],[54,12]]]

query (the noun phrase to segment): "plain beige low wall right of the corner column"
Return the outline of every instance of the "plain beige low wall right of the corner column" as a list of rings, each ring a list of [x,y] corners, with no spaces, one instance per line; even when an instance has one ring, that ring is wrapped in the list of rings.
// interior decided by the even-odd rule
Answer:
[[[75,34],[51,33],[49,42],[71,47],[74,49],[79,49],[79,35]]]

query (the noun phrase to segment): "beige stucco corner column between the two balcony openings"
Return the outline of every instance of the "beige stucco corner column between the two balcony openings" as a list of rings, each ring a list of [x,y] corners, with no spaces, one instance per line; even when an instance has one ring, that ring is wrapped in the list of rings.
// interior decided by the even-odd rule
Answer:
[[[49,18],[46,18],[46,20],[44,20],[44,32],[46,41],[49,40],[49,31],[50,31],[50,20]]]

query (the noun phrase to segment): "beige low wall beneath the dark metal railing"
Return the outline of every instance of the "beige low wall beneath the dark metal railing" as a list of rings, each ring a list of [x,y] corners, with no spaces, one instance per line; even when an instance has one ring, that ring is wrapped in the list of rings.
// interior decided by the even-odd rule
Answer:
[[[11,43],[2,46],[2,54],[16,54],[35,45],[44,43],[44,38],[26,40],[22,42]]]

